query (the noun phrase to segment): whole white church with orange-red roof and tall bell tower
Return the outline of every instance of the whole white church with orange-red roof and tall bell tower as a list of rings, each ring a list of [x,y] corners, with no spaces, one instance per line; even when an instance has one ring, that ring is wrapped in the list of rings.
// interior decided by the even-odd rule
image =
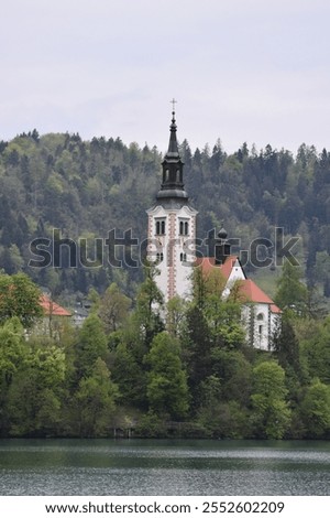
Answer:
[[[156,282],[165,302],[173,296],[191,296],[191,268],[202,274],[219,271],[226,298],[235,284],[242,300],[242,323],[246,342],[263,350],[272,348],[272,337],[280,321],[280,310],[253,280],[248,279],[239,257],[231,255],[227,231],[218,234],[212,257],[196,257],[197,211],[189,203],[184,185],[184,163],[177,144],[175,111],[172,112],[168,150],[162,162],[163,180],[155,204],[147,213],[147,257],[155,261]]]

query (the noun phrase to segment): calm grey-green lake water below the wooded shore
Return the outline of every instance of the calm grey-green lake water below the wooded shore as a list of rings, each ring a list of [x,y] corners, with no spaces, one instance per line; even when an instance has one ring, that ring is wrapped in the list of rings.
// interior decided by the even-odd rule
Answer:
[[[330,495],[330,443],[2,440],[0,495]]]

